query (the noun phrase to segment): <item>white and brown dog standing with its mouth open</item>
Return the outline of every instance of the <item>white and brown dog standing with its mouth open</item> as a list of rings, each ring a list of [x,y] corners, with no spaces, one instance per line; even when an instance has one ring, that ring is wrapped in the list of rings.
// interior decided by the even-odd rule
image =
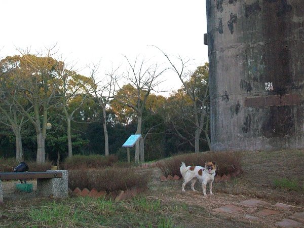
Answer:
[[[194,189],[194,185],[199,179],[199,181],[202,183],[203,188],[203,194],[206,196],[206,187],[207,183],[209,183],[209,191],[210,195],[213,195],[212,193],[212,183],[215,176],[216,171],[216,162],[206,162],[205,167],[202,166],[187,166],[182,162],[181,166],[179,168],[179,171],[184,179],[181,190],[185,192],[185,185],[191,181],[191,189],[193,191],[196,191]]]

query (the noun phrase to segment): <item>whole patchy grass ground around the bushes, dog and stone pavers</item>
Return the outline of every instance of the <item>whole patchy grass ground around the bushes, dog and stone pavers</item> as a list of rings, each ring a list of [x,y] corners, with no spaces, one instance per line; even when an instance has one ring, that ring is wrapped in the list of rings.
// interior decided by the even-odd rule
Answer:
[[[184,156],[186,158],[192,155]],[[214,157],[211,157],[211,161],[214,160]],[[152,166],[147,168],[148,171],[153,172],[148,190],[137,199],[123,202],[82,197],[52,201],[32,197],[29,194],[26,195],[27,198],[25,196],[21,198],[20,195],[10,197],[6,195],[5,204],[0,205],[0,226],[55,227],[52,221],[57,219],[54,211],[58,210],[60,213],[58,213],[57,227],[87,227],[88,224],[92,227],[276,227],[277,221],[292,213],[304,211],[302,188],[304,152],[302,150],[244,152],[240,157],[240,164],[243,170],[241,175],[228,182],[214,183],[214,196],[208,194],[203,197],[199,183],[196,186],[198,192],[194,193],[190,191],[189,186],[186,186],[186,192],[182,193],[182,180],[159,181],[162,171]],[[192,164],[188,163],[188,165]],[[223,170],[222,166],[219,168]],[[134,171],[135,174],[145,173],[145,170]],[[124,170],[120,170],[120,173],[124,173]],[[130,176],[133,174],[130,172]],[[113,179],[110,175],[117,173],[107,173],[108,178]],[[124,178],[130,176],[126,175]],[[98,178],[102,179],[103,176]],[[282,184],[278,185],[275,180],[283,181],[279,181]],[[107,182],[108,179],[104,181]],[[289,184],[294,186],[294,183],[298,187],[289,186]],[[6,184],[4,182],[5,190]],[[258,208],[243,207],[244,213],[214,211],[215,208],[227,204],[238,206],[240,202],[250,198],[260,198],[267,204]],[[279,215],[263,216],[257,220],[244,217],[246,214],[254,215],[263,208],[277,210],[273,206],[277,202],[293,207],[289,212],[280,211]],[[45,220],[42,216],[44,213]]]

